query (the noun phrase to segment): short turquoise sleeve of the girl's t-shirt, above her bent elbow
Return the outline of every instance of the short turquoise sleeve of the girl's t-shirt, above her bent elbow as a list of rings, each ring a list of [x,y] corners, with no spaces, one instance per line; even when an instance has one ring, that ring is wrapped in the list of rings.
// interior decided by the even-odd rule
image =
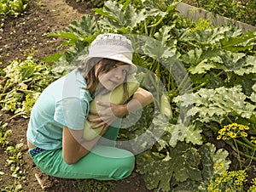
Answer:
[[[89,104],[78,98],[66,98],[55,104],[55,121],[73,130],[84,128],[88,116]]]

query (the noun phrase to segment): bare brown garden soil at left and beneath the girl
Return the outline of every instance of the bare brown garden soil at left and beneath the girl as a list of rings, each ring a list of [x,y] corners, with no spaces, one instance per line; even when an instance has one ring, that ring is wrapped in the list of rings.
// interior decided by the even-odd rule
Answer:
[[[61,51],[59,48],[61,38],[48,37],[47,34],[59,31],[69,25],[73,20],[79,20],[84,14],[93,14],[90,3],[75,3],[74,0],[34,0],[30,1],[26,13],[18,18],[3,18],[0,16],[0,67],[9,65],[15,58],[25,59],[25,52],[33,49],[36,59]],[[8,122],[9,144],[23,144],[21,148],[22,160],[20,170],[25,178],[20,182],[22,191],[102,191],[99,186],[90,184],[90,189],[84,188],[86,180],[62,179],[49,177],[41,172],[27,154],[26,126],[28,119],[10,118],[13,114],[0,110],[0,121]],[[9,156],[0,147],[0,172],[4,172],[0,178],[0,189],[15,184],[15,178],[11,177],[10,167],[6,167]],[[97,184],[97,183],[96,183]],[[136,170],[131,177],[121,181],[102,182],[108,186],[108,191],[150,191],[145,187],[143,178]],[[6,191],[6,190],[5,190]],[[8,191],[8,190],[7,190]],[[15,190],[11,190],[15,191]]]

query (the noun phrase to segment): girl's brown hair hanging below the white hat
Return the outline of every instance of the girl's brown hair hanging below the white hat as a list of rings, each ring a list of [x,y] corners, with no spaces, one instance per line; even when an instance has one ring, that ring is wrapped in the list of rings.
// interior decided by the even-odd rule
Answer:
[[[102,63],[101,67],[98,69],[97,74],[95,74],[95,68],[96,65]],[[108,71],[111,71],[113,68],[116,67],[116,65],[120,64],[119,60],[113,60],[113,59],[106,59],[106,58],[91,58],[86,63],[82,62],[82,65],[79,67],[79,71],[83,71],[84,79],[87,82],[87,88],[90,89],[93,87],[96,83],[99,82],[98,76],[101,73],[107,73]],[[125,64],[124,64],[125,65]],[[125,76],[125,81],[123,83],[124,87],[124,95],[127,95],[128,88],[127,88],[127,75]]]

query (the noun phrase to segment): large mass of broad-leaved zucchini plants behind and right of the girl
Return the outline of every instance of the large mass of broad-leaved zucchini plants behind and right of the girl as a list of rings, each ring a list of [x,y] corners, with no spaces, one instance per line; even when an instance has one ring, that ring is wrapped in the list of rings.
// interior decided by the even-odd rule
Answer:
[[[71,46],[58,61],[67,65],[79,65],[99,33],[130,37],[133,62],[151,72],[139,71],[137,78],[155,102],[119,139],[132,140],[132,151],[150,149],[137,156],[148,189],[206,191],[230,165],[228,152],[208,141],[230,121],[255,126],[256,33],[194,23],[177,14],[177,3],[107,1],[93,9],[97,20],[85,15],[51,35]],[[140,114],[129,116],[136,121]]]

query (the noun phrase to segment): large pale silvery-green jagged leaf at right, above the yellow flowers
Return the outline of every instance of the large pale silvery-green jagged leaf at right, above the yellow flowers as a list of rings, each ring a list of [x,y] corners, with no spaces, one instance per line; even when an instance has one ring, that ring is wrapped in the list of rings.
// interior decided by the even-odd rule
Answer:
[[[194,104],[186,116],[192,116],[194,121],[221,122],[226,116],[241,116],[250,119],[255,116],[255,105],[247,102],[247,96],[241,92],[241,86],[233,88],[201,88],[197,93],[178,96],[174,101],[183,101],[183,106]],[[181,107],[183,107],[181,106]]]

